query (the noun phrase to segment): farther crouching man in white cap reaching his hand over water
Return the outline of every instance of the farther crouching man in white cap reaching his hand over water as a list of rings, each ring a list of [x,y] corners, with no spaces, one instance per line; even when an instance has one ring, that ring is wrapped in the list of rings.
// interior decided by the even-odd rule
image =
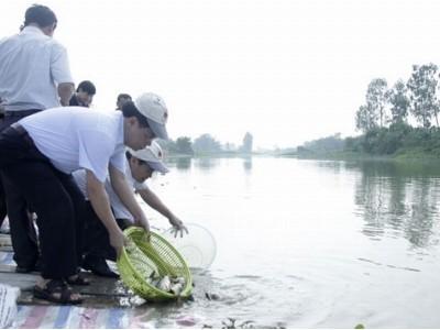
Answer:
[[[162,202],[145,183],[154,172],[161,174],[166,174],[168,172],[168,168],[166,168],[163,163],[163,152],[158,143],[153,141],[150,146],[139,151],[129,148],[125,153],[125,178],[130,187],[132,187],[135,193],[139,193],[150,207],[168,219],[175,234],[179,232],[180,235],[183,235],[184,231],[187,232],[182,220]],[[73,175],[78,187],[87,198],[85,170],[77,170]],[[106,191],[109,195],[110,205],[120,228],[125,229],[129,226],[133,226],[132,215],[114,193],[109,178],[106,180]],[[119,277],[106,263],[106,258],[114,261],[116,253],[109,244],[109,235],[105,227],[99,221],[99,218],[90,205],[87,208],[85,243],[82,267],[99,276]]]

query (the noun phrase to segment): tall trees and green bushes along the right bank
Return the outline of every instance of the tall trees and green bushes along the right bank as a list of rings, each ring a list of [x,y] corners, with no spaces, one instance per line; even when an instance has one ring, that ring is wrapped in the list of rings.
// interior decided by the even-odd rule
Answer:
[[[341,139],[334,134],[305,143],[298,153],[345,151],[440,157],[439,78],[439,67],[430,63],[414,65],[409,79],[399,79],[392,87],[386,79],[373,79],[365,103],[355,113],[360,136]]]

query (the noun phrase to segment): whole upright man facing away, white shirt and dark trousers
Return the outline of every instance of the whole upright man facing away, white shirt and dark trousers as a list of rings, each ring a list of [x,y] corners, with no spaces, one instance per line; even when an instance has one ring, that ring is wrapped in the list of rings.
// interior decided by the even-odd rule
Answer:
[[[21,32],[0,41],[0,98],[4,108],[0,131],[44,109],[68,106],[74,80],[66,48],[53,38],[56,25],[50,8],[34,4],[24,14]],[[26,202],[13,185],[9,186],[7,205],[16,272],[28,273],[36,270],[36,234]]]

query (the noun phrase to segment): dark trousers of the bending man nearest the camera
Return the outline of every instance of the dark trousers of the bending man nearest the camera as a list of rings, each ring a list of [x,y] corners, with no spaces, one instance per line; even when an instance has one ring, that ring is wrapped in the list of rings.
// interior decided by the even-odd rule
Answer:
[[[76,274],[85,200],[72,175],[57,170],[25,132],[12,128],[0,133],[0,169],[38,216],[42,276]]]

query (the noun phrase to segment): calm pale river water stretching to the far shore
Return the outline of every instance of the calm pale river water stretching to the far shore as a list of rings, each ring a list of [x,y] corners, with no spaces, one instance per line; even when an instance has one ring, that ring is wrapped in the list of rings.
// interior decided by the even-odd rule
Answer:
[[[168,165],[150,187],[182,220],[209,229],[218,250],[211,267],[195,273],[195,300],[157,308],[155,327],[219,328],[228,318],[253,327],[440,327],[440,164]]]

